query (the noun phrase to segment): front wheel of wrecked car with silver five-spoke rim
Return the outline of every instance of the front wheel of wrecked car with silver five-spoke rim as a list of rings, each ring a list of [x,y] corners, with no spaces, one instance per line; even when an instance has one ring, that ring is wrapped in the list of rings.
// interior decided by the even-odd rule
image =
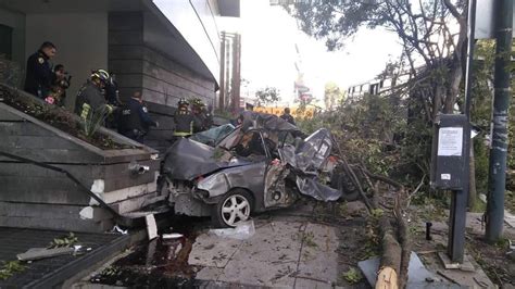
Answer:
[[[213,223],[219,227],[236,227],[250,218],[252,197],[242,189],[227,192],[213,208]]]

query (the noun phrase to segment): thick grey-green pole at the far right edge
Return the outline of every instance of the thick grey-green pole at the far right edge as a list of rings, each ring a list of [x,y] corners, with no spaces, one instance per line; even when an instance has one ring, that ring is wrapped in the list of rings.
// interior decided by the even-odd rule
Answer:
[[[510,108],[510,63],[513,37],[513,0],[498,0],[495,17],[495,71],[493,93],[493,131],[488,174],[486,239],[498,241],[503,234],[504,193],[506,189],[507,122]]]

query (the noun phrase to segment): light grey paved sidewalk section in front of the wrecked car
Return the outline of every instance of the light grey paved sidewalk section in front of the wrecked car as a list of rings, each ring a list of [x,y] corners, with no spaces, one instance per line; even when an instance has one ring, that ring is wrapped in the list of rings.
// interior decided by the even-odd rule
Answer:
[[[247,240],[202,234],[189,263],[197,279],[250,286],[330,288],[338,281],[339,239],[332,226],[309,221],[255,221]]]

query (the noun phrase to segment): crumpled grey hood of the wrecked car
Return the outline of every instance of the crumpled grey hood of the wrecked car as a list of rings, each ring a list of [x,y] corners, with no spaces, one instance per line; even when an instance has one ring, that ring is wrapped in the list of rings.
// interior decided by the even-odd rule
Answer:
[[[213,148],[187,138],[177,140],[164,156],[163,171],[174,179],[193,180],[221,168],[249,165],[221,148]]]

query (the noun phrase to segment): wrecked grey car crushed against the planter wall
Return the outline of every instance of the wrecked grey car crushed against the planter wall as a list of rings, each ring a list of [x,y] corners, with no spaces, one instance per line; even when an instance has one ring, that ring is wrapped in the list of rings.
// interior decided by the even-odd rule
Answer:
[[[275,115],[253,113],[215,147],[177,140],[162,168],[175,213],[211,215],[216,225],[234,227],[251,213],[289,206],[302,196],[355,199],[337,173],[329,131],[300,135]]]

